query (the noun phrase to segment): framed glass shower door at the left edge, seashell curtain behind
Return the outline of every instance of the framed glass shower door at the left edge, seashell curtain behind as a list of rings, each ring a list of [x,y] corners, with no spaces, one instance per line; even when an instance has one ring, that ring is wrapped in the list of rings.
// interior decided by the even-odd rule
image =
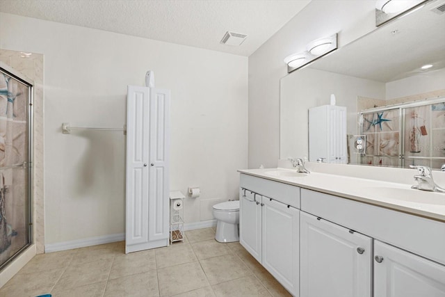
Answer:
[[[0,67],[0,269],[31,244],[32,99],[31,81]]]

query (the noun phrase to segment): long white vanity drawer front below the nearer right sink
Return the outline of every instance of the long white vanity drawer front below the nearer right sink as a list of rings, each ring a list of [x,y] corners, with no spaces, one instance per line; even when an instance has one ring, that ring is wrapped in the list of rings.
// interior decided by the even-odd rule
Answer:
[[[301,189],[301,210],[445,264],[445,223]]]

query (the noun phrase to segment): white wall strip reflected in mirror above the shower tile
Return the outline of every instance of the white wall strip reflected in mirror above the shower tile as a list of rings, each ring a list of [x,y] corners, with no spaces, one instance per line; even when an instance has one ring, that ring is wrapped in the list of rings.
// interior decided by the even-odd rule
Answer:
[[[445,89],[445,68],[421,72],[412,77],[387,83],[386,99],[428,93]]]

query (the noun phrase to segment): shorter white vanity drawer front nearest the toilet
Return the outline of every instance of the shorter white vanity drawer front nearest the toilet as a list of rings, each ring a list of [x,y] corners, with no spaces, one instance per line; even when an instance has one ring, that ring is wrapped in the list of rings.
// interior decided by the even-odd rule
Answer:
[[[241,174],[240,187],[300,209],[300,188],[298,186]]]

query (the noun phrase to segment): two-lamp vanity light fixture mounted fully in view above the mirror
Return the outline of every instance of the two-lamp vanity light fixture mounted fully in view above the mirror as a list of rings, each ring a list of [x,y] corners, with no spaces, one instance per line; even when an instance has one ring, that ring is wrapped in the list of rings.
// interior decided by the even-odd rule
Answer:
[[[287,73],[291,73],[337,49],[337,33],[309,42],[306,48],[307,51],[291,54],[284,58],[284,63],[287,64]]]

